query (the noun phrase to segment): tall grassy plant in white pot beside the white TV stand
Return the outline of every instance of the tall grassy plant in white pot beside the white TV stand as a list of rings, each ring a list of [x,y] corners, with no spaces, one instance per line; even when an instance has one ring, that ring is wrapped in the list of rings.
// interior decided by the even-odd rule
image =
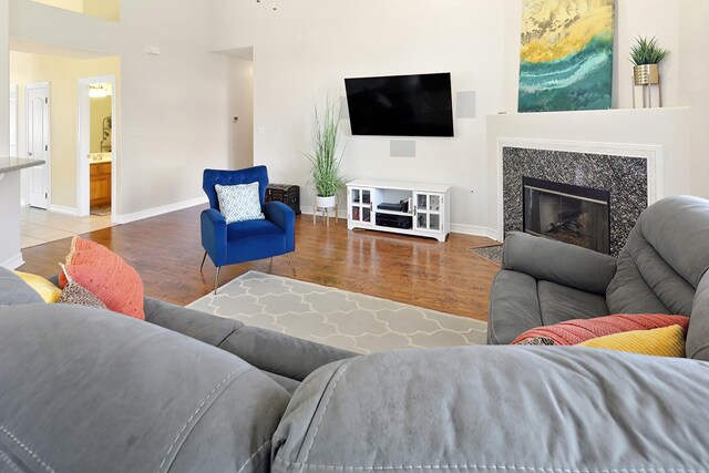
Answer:
[[[315,107],[312,120],[314,154],[306,154],[310,164],[310,182],[316,191],[316,208],[332,208],[337,194],[345,185],[340,174],[342,154],[337,155],[340,137],[340,109],[330,103],[325,103],[325,111],[318,113]]]

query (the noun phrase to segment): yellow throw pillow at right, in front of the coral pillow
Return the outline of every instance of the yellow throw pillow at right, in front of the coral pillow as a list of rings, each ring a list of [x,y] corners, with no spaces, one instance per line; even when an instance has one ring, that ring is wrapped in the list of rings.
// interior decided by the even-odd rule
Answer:
[[[576,347],[605,348],[655,357],[686,357],[685,332],[679,326],[607,335],[586,340]]]

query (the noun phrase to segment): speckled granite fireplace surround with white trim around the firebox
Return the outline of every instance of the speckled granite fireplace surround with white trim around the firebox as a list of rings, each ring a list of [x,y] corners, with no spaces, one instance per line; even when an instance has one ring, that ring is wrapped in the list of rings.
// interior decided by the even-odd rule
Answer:
[[[659,198],[662,146],[497,140],[500,235],[522,232],[522,176],[610,192],[610,255]]]

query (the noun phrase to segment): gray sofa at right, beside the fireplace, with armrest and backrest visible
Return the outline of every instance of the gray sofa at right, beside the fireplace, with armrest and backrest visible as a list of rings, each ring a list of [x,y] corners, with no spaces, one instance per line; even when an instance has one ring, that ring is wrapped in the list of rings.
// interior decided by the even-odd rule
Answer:
[[[648,207],[617,260],[510,233],[490,296],[489,343],[511,343],[535,327],[609,313],[700,319],[695,315],[706,312],[709,304],[708,268],[709,202],[697,197],[669,197]],[[707,349],[692,332],[690,356]]]

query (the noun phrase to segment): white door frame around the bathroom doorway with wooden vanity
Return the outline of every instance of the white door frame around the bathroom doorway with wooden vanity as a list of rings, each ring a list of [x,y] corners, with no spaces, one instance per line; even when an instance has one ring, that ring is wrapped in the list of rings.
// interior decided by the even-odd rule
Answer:
[[[116,222],[117,214],[117,165],[116,148],[119,141],[115,75],[96,75],[79,79],[78,85],[78,126],[76,126],[76,215],[84,217],[91,210],[91,176],[89,168],[89,153],[91,144],[91,100],[89,86],[91,84],[111,84],[111,223]]]

